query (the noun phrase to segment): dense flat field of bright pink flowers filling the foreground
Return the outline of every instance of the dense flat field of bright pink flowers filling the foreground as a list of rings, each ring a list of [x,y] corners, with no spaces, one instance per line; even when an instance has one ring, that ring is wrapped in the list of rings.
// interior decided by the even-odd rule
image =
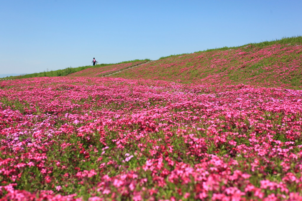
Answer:
[[[302,200],[302,91],[0,81],[0,200]]]

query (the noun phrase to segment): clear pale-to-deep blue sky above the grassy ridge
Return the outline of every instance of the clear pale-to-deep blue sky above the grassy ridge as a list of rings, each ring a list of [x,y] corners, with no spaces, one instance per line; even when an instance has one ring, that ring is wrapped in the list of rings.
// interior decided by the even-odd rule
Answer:
[[[301,0],[2,0],[0,74],[301,36],[301,8]]]

